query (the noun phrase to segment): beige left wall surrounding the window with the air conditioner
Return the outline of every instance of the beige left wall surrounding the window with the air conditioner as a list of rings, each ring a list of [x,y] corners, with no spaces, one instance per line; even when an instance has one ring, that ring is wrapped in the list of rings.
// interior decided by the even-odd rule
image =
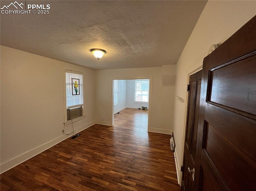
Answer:
[[[75,132],[94,124],[94,70],[1,46],[1,172],[68,136],[64,126],[64,71],[84,74],[84,119]]]

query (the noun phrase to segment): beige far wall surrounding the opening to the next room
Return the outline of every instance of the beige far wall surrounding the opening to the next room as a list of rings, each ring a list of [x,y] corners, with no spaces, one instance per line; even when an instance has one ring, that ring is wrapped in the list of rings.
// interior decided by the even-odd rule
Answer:
[[[175,73],[176,65],[96,71],[96,122],[106,125],[112,124],[112,79],[152,77],[152,105],[149,105],[151,123],[148,130],[171,134]],[[171,80],[171,83],[166,86],[162,86],[163,75],[169,76]]]

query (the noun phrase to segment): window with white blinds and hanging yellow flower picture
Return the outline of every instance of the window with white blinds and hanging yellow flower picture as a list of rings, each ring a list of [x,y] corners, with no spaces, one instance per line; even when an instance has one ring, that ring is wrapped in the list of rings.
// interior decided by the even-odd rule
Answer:
[[[67,108],[83,106],[83,75],[66,72],[66,98]]]

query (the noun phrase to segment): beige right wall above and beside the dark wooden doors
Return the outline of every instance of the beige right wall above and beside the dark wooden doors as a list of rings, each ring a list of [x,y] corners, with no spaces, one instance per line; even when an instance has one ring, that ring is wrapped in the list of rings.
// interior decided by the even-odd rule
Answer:
[[[176,95],[186,98],[188,74],[200,67],[212,44],[223,43],[256,15],[256,1],[208,1],[177,63]],[[183,158],[185,104],[175,99],[174,138],[180,177]],[[180,181],[180,179],[179,179]]]

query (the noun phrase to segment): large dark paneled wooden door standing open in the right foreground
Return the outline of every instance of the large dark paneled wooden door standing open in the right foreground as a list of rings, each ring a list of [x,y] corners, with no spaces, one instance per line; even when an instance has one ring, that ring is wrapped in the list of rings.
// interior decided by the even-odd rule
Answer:
[[[256,16],[204,58],[194,191],[256,190]]]

